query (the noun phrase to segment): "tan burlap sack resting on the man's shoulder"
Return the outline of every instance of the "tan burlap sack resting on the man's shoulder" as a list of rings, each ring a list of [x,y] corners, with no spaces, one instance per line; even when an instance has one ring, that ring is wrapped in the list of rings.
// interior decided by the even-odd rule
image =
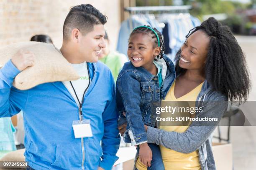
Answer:
[[[0,48],[0,67],[20,49],[33,52],[35,64],[15,77],[14,87],[27,90],[46,82],[79,79],[79,75],[63,55],[53,45],[43,42],[19,42]]]

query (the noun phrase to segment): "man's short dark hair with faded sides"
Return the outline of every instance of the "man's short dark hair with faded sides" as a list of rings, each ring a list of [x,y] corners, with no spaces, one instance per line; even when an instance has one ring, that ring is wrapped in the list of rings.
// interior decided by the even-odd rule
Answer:
[[[83,35],[93,30],[94,25],[107,22],[107,17],[90,4],[74,6],[70,9],[63,25],[63,39],[68,40],[71,31],[77,28]]]

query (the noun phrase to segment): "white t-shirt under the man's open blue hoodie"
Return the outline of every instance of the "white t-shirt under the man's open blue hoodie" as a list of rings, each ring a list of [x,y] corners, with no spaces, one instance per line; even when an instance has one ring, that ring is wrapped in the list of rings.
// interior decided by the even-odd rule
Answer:
[[[83,94],[84,94],[84,90],[87,88],[87,86],[89,84],[89,75],[88,75],[88,71],[87,71],[87,64],[86,64],[86,62],[82,62],[81,64],[71,64],[71,65],[74,67],[74,69],[77,71],[78,75],[80,76],[79,80],[75,80],[75,81],[71,81],[71,82],[74,87],[74,90],[76,90],[77,97],[81,103]],[[77,97],[74,93],[74,90],[73,90],[70,82],[64,81],[63,83],[67,87],[67,90],[69,90],[70,94],[76,101],[77,105],[79,105],[79,102],[77,101]]]

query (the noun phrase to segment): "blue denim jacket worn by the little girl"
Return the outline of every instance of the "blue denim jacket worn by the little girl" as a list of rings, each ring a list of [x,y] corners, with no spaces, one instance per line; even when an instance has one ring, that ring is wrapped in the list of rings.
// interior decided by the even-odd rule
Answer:
[[[118,124],[122,125],[125,121],[123,112],[126,112],[128,122],[127,130],[123,135],[125,143],[132,142],[128,130],[131,130],[136,144],[147,142],[144,124],[155,126],[156,107],[160,107],[161,98],[166,96],[174,82],[175,69],[172,60],[166,55],[159,60],[167,66],[161,89],[158,76],[152,75],[143,67],[134,67],[131,62],[126,62],[118,75],[116,82],[117,108],[120,114]]]

